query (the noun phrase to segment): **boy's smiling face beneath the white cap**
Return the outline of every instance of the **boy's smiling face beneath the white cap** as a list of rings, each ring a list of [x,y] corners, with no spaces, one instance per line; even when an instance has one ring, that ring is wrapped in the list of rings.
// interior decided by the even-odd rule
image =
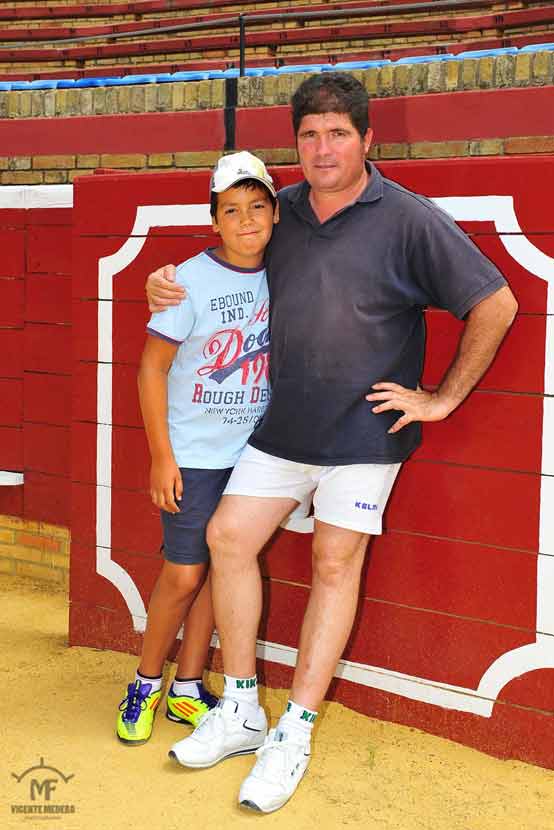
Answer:
[[[231,265],[256,268],[278,221],[279,205],[274,211],[269,191],[260,184],[218,193],[212,227],[220,234],[224,258]]]

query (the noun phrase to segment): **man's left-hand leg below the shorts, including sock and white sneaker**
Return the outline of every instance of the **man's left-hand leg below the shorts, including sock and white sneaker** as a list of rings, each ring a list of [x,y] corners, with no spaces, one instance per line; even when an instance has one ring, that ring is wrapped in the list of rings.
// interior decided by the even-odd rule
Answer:
[[[216,709],[169,755],[187,767],[210,767],[234,755],[255,752],[267,734],[258,704],[256,635],[262,607],[258,553],[297,501],[289,498],[224,496],[210,520],[214,612],[225,671],[225,691]]]

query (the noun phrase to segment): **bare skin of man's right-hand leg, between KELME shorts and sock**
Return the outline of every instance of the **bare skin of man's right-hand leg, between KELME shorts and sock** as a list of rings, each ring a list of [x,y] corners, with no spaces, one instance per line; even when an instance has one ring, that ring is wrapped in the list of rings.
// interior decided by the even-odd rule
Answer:
[[[291,698],[317,710],[350,636],[369,535],[315,522],[312,590],[298,649]]]

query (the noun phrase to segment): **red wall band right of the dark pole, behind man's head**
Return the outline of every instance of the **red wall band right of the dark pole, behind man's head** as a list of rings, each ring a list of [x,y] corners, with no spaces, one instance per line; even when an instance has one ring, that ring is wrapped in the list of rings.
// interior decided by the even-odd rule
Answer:
[[[380,98],[370,102],[378,144],[508,138],[554,132],[554,87]],[[289,106],[237,110],[237,147],[294,144]]]

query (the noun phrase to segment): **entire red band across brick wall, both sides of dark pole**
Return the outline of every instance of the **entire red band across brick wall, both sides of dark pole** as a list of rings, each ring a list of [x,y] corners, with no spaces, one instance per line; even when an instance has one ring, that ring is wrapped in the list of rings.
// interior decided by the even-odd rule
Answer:
[[[554,88],[382,98],[370,104],[378,143],[505,138],[554,132]],[[0,119],[3,155],[223,150],[223,111]],[[239,149],[293,146],[289,106],[237,110]]]

